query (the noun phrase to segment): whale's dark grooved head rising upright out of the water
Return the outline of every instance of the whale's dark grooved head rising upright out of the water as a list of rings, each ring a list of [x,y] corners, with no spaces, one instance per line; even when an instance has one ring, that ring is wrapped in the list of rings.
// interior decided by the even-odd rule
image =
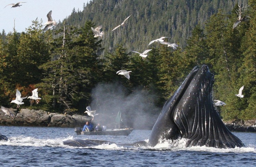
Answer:
[[[162,108],[148,144],[186,138],[186,147],[244,147],[222,122],[212,100],[214,75],[196,66]]]

